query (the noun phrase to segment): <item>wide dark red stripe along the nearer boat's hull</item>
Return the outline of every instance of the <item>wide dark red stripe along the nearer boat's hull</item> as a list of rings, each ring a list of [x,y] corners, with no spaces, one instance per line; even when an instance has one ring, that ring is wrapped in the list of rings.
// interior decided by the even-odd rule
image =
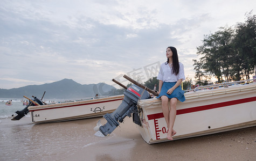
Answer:
[[[211,105],[204,105],[204,106],[197,106],[197,107],[191,107],[191,108],[185,108],[185,109],[178,109],[177,110],[177,115],[181,115],[181,114],[185,114],[185,113],[198,112],[198,111],[204,111],[204,110],[207,110],[207,109],[213,109],[213,108],[219,108],[219,107],[249,103],[249,102],[252,102],[252,101],[256,101],[256,97],[226,101],[226,102],[223,102],[223,103],[217,103],[217,104],[211,104]],[[151,115],[147,115],[147,116],[148,116],[148,120],[159,119],[159,118],[164,117],[163,113],[156,113],[156,114],[151,114]]]

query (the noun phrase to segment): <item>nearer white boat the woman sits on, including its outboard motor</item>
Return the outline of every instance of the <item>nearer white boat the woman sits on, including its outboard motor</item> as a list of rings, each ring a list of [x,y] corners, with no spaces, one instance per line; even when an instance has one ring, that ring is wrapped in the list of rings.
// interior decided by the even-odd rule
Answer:
[[[256,83],[255,79],[252,80],[254,82],[250,84],[241,84],[251,81],[244,80],[199,86],[186,92],[186,100],[177,103],[174,124],[177,134],[173,136],[174,140],[256,126]],[[133,113],[133,122],[144,141],[149,144],[170,141],[167,139],[168,128],[161,99],[149,98],[145,94],[147,87],[135,84],[138,86],[132,85],[124,92],[124,100],[131,104],[122,103],[112,114],[104,115],[108,122],[102,126],[99,121],[94,128],[97,131],[95,135],[108,136],[119,122]],[[127,111],[123,111],[123,106]]]

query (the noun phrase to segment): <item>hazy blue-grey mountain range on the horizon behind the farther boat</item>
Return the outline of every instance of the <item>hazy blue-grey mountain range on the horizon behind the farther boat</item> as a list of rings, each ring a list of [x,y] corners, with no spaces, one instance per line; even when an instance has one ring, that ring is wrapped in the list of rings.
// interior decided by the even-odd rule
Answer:
[[[27,85],[15,89],[0,89],[0,98],[23,98],[23,96],[31,98],[36,96],[41,99],[44,92],[44,99],[82,99],[86,97],[94,97],[107,95],[109,91],[116,89],[115,87],[105,84],[79,84],[72,79],[63,79],[53,83],[42,85]]]

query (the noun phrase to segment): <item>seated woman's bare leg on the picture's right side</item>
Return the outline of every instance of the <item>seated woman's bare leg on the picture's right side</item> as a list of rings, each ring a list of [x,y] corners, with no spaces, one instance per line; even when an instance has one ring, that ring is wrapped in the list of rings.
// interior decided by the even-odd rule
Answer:
[[[177,104],[178,99],[177,98],[171,98],[170,100],[170,112],[169,112],[169,129],[167,133],[167,138],[169,140],[174,140],[172,136],[176,134],[176,131],[173,129],[174,127],[174,122],[176,119],[176,104]]]

